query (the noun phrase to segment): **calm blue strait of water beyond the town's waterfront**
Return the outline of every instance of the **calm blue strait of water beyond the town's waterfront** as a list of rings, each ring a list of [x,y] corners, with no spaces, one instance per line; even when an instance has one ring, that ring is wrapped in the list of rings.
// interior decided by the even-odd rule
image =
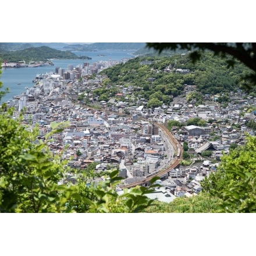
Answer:
[[[22,92],[26,92],[25,87],[33,87],[34,83],[32,80],[37,74],[55,72],[55,67],[61,67],[62,69],[67,69],[67,65],[83,65],[84,62],[90,62],[90,65],[93,62],[98,61],[120,61],[123,58],[132,58],[134,51],[97,51],[97,52],[73,52],[77,56],[88,56],[92,59],[62,59],[54,60],[54,66],[42,66],[42,67],[19,67],[19,68],[9,68],[1,69],[2,74],[0,74],[0,81],[3,84],[4,88],[9,88],[10,93],[6,94],[5,97],[1,99],[2,102],[9,101],[15,95],[19,95]],[[104,56],[98,56],[104,55]],[[20,84],[17,84],[20,83]]]

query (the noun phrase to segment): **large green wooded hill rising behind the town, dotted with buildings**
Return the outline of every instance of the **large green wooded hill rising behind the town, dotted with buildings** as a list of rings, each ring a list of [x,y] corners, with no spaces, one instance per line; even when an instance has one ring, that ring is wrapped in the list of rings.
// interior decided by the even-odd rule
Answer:
[[[142,63],[142,61],[150,61]],[[202,94],[216,94],[236,90],[241,77],[250,70],[240,62],[228,67],[224,59],[205,52],[200,61],[193,63],[189,54],[169,57],[137,57],[104,70],[112,84],[130,83],[143,88],[140,94],[148,99],[155,91],[163,95],[179,95],[184,84],[197,86]]]

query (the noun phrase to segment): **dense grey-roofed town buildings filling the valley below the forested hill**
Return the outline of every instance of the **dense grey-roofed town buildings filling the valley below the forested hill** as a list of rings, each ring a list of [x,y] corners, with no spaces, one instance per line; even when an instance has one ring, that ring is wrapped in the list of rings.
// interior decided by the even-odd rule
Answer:
[[[16,116],[23,112],[24,125],[39,127],[42,139],[51,131],[52,122],[69,122],[62,133],[52,135],[48,147],[52,154],[67,160],[70,168],[84,169],[91,163],[97,163],[97,173],[117,168],[124,186],[157,174],[178,157],[158,124],[168,126],[175,120],[183,126],[171,127],[170,133],[182,147],[187,144],[189,161],[161,175],[156,182],[161,187],[149,195],[170,202],[197,195],[200,182],[215,172],[230,146],[243,145],[246,133],[254,135],[246,122],[255,119],[256,113],[248,109],[256,106],[256,98],[240,90],[229,94],[231,101],[225,108],[209,94],[204,95],[204,105],[187,102],[186,95],[196,90],[187,84],[170,105],[157,108],[147,108],[144,98],[134,97],[134,91],[141,88],[131,84],[116,84],[118,93],[108,101],[99,101],[93,92],[107,79],[100,73],[106,66],[84,63],[83,67],[69,65],[67,70],[56,67],[55,73],[37,74],[32,88],[6,102],[8,108],[15,108]],[[204,120],[205,126],[187,125],[193,118]],[[211,154],[204,154],[209,151]],[[104,179],[104,175],[95,177],[94,182]],[[61,182],[75,183],[76,176],[69,173]]]

